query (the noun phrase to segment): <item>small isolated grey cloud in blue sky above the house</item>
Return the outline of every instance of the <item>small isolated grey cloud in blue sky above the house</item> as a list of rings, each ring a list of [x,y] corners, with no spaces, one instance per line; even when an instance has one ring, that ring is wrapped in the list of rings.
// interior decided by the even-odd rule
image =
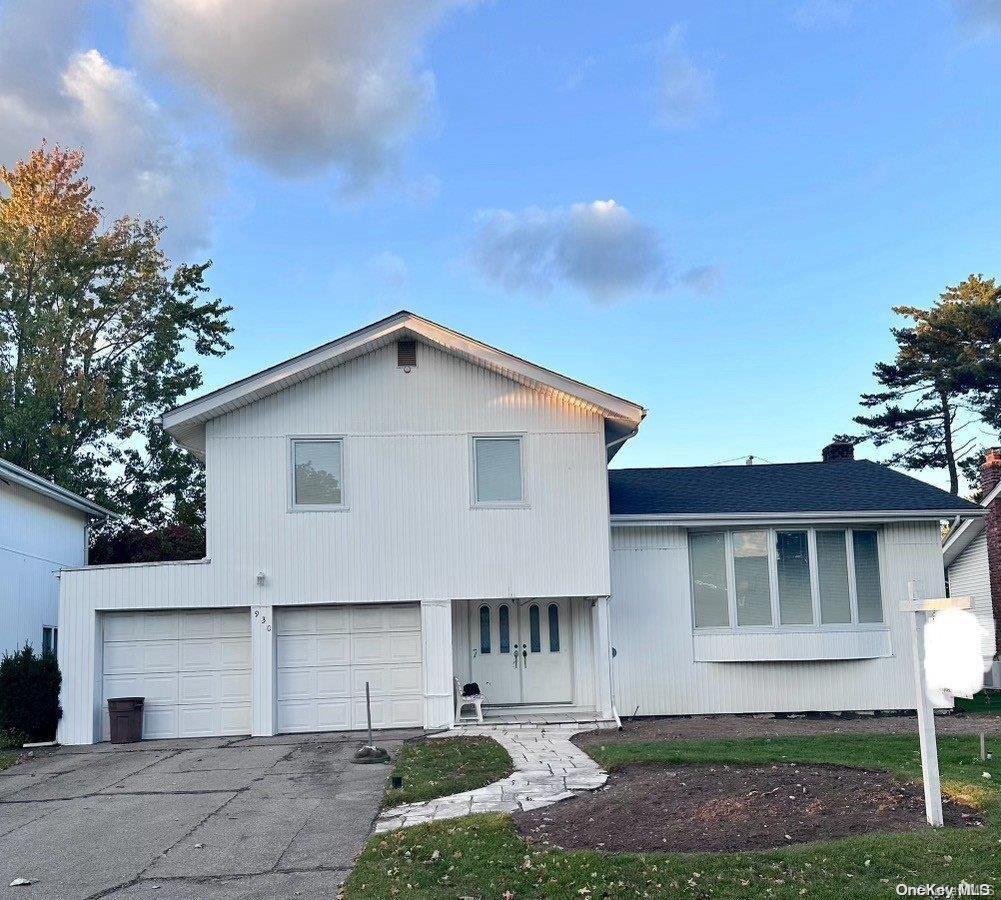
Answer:
[[[473,258],[507,290],[546,292],[558,283],[597,303],[668,286],[664,242],[650,225],[615,200],[570,209],[480,213]]]

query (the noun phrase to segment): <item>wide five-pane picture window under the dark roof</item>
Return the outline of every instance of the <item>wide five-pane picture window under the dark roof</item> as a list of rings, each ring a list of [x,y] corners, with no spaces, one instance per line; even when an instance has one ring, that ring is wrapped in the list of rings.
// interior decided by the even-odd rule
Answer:
[[[741,529],[689,535],[697,629],[883,622],[872,529]]]

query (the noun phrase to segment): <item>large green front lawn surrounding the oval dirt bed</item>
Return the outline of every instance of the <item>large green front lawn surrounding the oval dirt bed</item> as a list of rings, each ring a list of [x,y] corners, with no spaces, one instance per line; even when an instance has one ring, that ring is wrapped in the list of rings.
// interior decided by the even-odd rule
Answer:
[[[990,747],[988,749],[991,749]],[[1001,748],[997,748],[1001,750]],[[898,883],[1001,887],[997,760],[981,763],[977,738],[942,738],[948,793],[987,810],[977,829],[863,835],[740,854],[602,854],[527,844],[506,816],[470,816],[373,837],[345,886],[346,900],[384,898],[895,897]],[[917,739],[837,736],[590,747],[603,764],[838,763],[914,778]],[[988,772],[992,778],[983,778]]]

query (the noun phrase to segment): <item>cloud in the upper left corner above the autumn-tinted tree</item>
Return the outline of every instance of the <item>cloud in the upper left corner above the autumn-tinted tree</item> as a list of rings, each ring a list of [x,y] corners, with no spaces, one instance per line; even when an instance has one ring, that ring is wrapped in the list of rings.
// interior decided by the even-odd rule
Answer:
[[[0,20],[0,159],[43,139],[82,147],[95,198],[111,216],[163,216],[168,251],[205,242],[212,167],[173,134],[134,73],[75,49],[82,4],[14,0]]]

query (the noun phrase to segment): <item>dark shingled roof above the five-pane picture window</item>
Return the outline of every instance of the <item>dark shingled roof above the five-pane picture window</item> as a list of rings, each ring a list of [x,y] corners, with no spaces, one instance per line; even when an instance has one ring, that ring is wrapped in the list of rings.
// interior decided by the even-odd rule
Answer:
[[[609,492],[613,516],[981,509],[868,460],[612,469]]]

